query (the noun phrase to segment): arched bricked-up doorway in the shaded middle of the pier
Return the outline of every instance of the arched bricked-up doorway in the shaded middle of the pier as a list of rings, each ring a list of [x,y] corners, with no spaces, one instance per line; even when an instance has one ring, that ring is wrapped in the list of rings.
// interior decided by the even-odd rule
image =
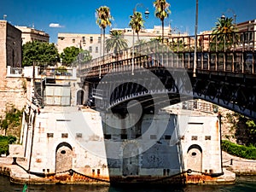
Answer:
[[[139,153],[136,143],[127,143],[123,149],[123,176],[136,176],[139,171]]]

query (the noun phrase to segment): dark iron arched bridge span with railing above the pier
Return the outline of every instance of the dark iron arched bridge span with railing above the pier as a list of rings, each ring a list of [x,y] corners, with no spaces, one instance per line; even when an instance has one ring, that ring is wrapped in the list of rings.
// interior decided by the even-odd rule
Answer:
[[[126,49],[79,66],[80,77],[93,84],[90,96],[96,99],[98,108],[119,108],[135,97],[145,108],[150,108],[151,93],[167,94],[171,104],[192,96],[256,119],[254,70],[250,73],[244,67],[242,71],[236,70],[238,62],[244,61],[242,66],[247,63],[243,57],[234,60],[241,50],[197,53],[200,56],[197,56],[196,73],[191,65],[192,51],[174,53],[164,44],[149,42],[137,46],[135,52],[134,62],[131,49]],[[252,55],[251,50],[242,55]],[[132,68],[135,75],[131,73]],[[154,107],[160,103],[155,102]]]

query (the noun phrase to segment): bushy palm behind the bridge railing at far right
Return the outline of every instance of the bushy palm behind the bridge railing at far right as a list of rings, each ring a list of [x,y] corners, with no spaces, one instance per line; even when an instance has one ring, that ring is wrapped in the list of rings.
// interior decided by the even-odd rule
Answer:
[[[218,18],[216,26],[212,28],[212,49],[227,49],[237,40],[236,27],[233,18]]]

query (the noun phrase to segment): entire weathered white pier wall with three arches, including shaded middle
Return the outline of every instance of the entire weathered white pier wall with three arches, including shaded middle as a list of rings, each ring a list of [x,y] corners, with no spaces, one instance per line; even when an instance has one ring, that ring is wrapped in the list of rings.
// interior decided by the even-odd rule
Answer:
[[[73,169],[104,179],[166,177],[188,169],[195,174],[222,172],[215,116],[177,124],[177,115],[169,113],[144,114],[134,122],[136,114],[122,121],[113,114],[101,117],[90,108],[36,109],[26,108],[21,133],[31,172]]]

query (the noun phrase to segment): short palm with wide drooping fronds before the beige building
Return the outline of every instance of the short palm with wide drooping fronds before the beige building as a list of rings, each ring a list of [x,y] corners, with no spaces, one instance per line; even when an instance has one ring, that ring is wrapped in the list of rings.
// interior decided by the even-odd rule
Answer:
[[[127,39],[123,36],[122,31],[111,31],[110,38],[106,40],[106,51],[113,50],[113,53],[118,53],[122,49],[128,48]]]

